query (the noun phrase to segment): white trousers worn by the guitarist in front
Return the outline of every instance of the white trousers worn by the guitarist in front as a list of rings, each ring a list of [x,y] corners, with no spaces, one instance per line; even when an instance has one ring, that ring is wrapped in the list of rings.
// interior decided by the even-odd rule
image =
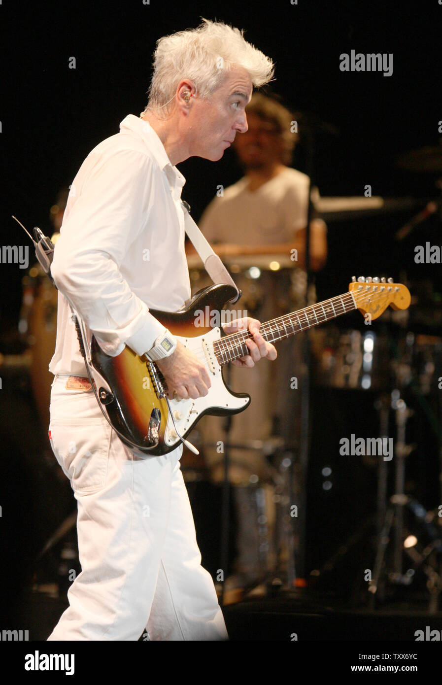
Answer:
[[[125,447],[93,391],[66,389],[62,375],[52,384],[49,432],[78,503],[82,572],[48,639],[228,639],[201,566],[182,449],[151,457]]]

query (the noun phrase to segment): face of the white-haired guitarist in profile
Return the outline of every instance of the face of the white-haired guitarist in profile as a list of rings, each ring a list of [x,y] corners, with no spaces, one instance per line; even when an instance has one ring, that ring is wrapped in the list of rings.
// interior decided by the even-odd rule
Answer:
[[[252,83],[245,69],[225,72],[225,79],[208,99],[195,97],[188,117],[187,136],[191,154],[216,162],[238,132],[247,131],[245,105]]]

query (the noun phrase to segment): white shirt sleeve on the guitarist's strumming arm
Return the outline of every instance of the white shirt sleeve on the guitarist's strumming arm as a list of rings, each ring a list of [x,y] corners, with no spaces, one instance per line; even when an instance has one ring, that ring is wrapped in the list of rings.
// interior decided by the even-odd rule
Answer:
[[[140,151],[88,155],[81,187],[74,179],[51,274],[110,356],[125,345],[142,355],[164,332],[119,271],[127,249],[149,227],[153,162]]]

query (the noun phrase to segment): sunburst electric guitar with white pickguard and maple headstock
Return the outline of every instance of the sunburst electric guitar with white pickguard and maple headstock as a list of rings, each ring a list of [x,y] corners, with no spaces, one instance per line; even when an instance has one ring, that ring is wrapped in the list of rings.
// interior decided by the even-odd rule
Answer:
[[[369,316],[371,321],[389,305],[396,310],[408,308],[410,292],[391,281],[367,278],[356,282],[354,278],[349,292],[266,321],[260,326],[260,334],[269,343],[275,343],[354,309]],[[110,357],[92,336],[89,367],[97,394],[110,423],[128,447],[158,456],[183,442],[196,452],[186,436],[201,416],[237,414],[249,406],[250,396],[233,393],[225,385],[222,370],[224,364],[249,353],[245,340],[251,334],[244,330],[226,335],[221,327],[210,325],[210,321],[221,321],[220,310],[236,294],[232,286],[213,285],[197,292],[177,312],[149,309],[182,345],[206,364],[212,382],[206,397],[169,399],[164,377],[155,362],[138,356],[127,346],[118,356]],[[197,314],[201,311],[206,312],[203,325]]]

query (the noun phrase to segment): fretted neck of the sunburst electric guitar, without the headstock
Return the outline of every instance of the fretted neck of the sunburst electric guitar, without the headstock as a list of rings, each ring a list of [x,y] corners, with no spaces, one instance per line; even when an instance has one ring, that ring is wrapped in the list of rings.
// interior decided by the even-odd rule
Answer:
[[[345,292],[344,295],[337,295],[297,312],[266,321],[260,325],[259,331],[268,343],[275,343],[277,340],[290,338],[324,321],[336,319],[336,316],[347,314],[356,308],[356,300],[352,292]],[[249,354],[249,348],[245,344],[247,338],[252,338],[249,330],[232,333],[217,340],[214,343],[214,353],[219,364],[227,364]]]

